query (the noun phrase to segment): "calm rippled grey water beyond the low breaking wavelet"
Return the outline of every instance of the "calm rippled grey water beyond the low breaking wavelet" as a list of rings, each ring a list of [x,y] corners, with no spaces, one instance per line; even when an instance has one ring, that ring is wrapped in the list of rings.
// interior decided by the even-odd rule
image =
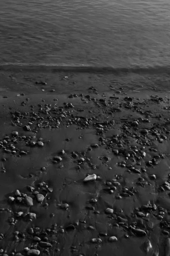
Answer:
[[[170,66],[170,0],[0,0],[0,64]]]

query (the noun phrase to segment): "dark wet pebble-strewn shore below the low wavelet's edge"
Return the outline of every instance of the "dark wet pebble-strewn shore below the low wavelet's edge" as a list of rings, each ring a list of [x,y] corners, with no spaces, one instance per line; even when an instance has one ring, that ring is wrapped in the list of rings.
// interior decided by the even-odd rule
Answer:
[[[170,255],[169,80],[0,70],[1,255]]]

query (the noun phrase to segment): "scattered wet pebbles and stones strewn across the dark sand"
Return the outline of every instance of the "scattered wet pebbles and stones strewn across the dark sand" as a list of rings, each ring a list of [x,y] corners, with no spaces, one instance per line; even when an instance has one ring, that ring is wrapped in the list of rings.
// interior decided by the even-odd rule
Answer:
[[[69,102],[64,102],[62,106],[58,106],[57,103],[54,106],[41,103],[36,107],[31,105],[31,111],[11,112],[12,125],[15,126],[15,131],[4,136],[0,141],[0,148],[4,155],[2,161],[8,160],[8,155],[10,154],[16,157],[23,155],[24,157],[24,155],[31,154],[30,148],[43,147],[46,143],[49,143],[43,138],[37,139],[37,133],[42,128],[59,129],[61,125],[65,127],[77,125],[77,129],[95,130],[95,134],[98,136],[98,143],[92,142],[91,145],[87,145],[86,151],[72,151],[69,155],[76,163],[75,171],[81,172],[81,170],[85,170],[85,166],[90,168],[87,175],[82,176],[82,180],[79,181],[81,186],[97,186],[95,184],[100,184],[97,196],[92,197],[84,206],[86,212],[90,215],[105,215],[105,218],[111,221],[112,231],[108,232],[109,234],[107,232],[98,232],[88,242],[95,244],[96,247],[101,247],[103,243],[117,243],[120,237],[115,230],[121,229],[125,239],[146,236],[147,239],[144,241],[143,250],[149,252],[153,250],[150,236],[154,232],[154,220],[156,220],[159,221],[162,236],[167,238],[167,248],[169,248],[170,222],[168,221],[168,216],[170,216],[170,209],[160,207],[157,201],[151,202],[147,201],[147,199],[147,204],[135,207],[132,212],[129,212],[128,216],[123,214],[123,209],[122,212],[118,212],[114,207],[115,201],[138,198],[139,187],[145,189],[147,186],[154,186],[158,195],[167,193],[164,196],[168,196],[170,194],[170,174],[167,174],[167,180],[159,184],[157,175],[153,173],[154,168],[166,157],[166,152],[160,152],[157,143],[162,144],[169,140],[170,131],[168,130],[168,125],[160,125],[156,121],[153,123],[150,113],[144,111],[144,108],[137,104],[133,98],[125,97],[119,100],[119,97],[116,96],[111,96],[110,98],[96,96],[96,99],[94,98],[94,93],[97,95],[96,89],[91,87],[90,90],[93,96],[71,94],[68,96]],[[100,117],[97,114],[95,116],[93,108],[86,113],[84,109],[80,109],[79,106],[70,102],[74,98],[81,98],[83,103],[92,102],[96,113],[99,110],[102,114]],[[151,100],[153,101],[153,98]],[[54,101],[57,102],[57,99],[54,99]],[[162,102],[162,98],[156,97],[153,102],[158,104]],[[142,104],[146,105],[146,102],[142,102]],[[21,108],[24,108],[25,105],[26,102],[22,102]],[[134,117],[123,118],[121,113],[123,109],[132,111],[132,113],[136,112],[139,117],[135,119]],[[80,112],[85,112],[85,115],[83,116],[82,114],[81,116]],[[115,134],[114,130],[117,128],[119,132]],[[113,131],[112,134],[111,131]],[[28,150],[23,150],[23,145]],[[102,147],[107,150],[108,155],[100,155],[98,160],[101,165],[107,166],[108,170],[113,173],[112,179],[108,180],[103,180],[99,175],[99,165],[94,164],[93,159],[87,157],[92,151],[97,151]],[[64,162],[65,154],[67,152],[64,149],[59,151],[52,158],[52,163],[59,164]],[[114,166],[111,164],[112,159],[116,159],[116,168],[120,168],[122,174],[117,175],[114,172]],[[42,169],[45,170],[45,167],[42,167]],[[4,167],[2,172],[6,172]],[[131,186],[126,186],[124,174],[131,175],[133,180]],[[75,180],[75,182],[78,181]],[[34,221],[39,218],[39,215],[34,212],[33,207],[41,205],[43,208],[47,208],[52,194],[53,188],[48,186],[48,182],[43,181],[37,183],[36,186],[30,184],[30,186],[23,188],[23,191],[17,189],[8,196],[8,209],[2,207],[0,211],[8,210],[8,212],[11,212],[11,217],[8,219],[11,226],[17,227],[21,220],[27,223],[26,232],[21,233],[20,230],[15,229],[13,239],[16,242],[29,241],[30,244],[29,247],[24,247],[22,252],[13,251],[10,253],[11,255],[38,256],[42,251],[47,254],[54,249],[60,251],[59,236],[67,232],[78,232],[79,222],[63,226],[54,224],[45,230],[41,230],[40,227],[34,227]],[[111,198],[110,200],[113,201],[113,204],[108,205],[105,209],[103,208],[101,212],[99,198],[105,194]],[[16,210],[20,209],[20,206],[23,207],[23,211]],[[58,210],[69,211],[70,207],[68,202],[57,204]],[[91,232],[96,230],[96,227],[86,221],[80,221],[80,223],[84,225],[83,228],[85,230],[91,230]],[[6,239],[6,234],[1,233],[0,239],[1,241]],[[8,255],[6,248],[2,247],[0,249],[0,255]],[[71,251],[74,253],[73,255],[82,255],[76,246],[72,246]],[[167,253],[166,255],[169,255],[169,250],[167,250]]]

